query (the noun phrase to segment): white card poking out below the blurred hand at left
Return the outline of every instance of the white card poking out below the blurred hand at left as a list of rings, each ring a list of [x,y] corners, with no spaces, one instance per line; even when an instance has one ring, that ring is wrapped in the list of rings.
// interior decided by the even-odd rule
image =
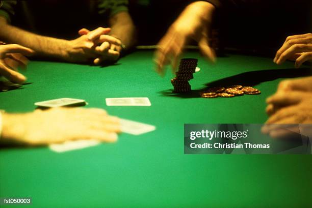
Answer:
[[[86,148],[89,146],[95,146],[98,145],[99,143],[100,141],[92,139],[75,140],[75,141],[66,141],[60,144],[50,144],[49,148],[54,152],[63,153],[67,151],[80,150],[82,148]]]

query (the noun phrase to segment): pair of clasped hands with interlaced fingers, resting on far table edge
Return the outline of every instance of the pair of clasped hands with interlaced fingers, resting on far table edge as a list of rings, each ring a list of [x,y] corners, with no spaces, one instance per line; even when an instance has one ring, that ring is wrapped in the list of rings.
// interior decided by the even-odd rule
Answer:
[[[111,46],[121,47],[121,41],[107,35],[111,28],[98,27],[93,31],[86,28],[78,32],[81,37],[69,41],[65,60],[74,63],[86,63],[90,60],[98,65],[103,61],[116,61],[120,51],[111,49]]]

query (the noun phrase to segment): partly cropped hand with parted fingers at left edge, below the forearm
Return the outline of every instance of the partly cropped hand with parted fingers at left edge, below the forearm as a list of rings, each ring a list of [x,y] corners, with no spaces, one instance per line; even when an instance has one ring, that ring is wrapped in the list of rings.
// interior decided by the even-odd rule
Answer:
[[[20,83],[26,77],[18,72],[18,67],[26,68],[28,59],[24,55],[32,55],[34,51],[16,44],[0,45],[0,76]]]

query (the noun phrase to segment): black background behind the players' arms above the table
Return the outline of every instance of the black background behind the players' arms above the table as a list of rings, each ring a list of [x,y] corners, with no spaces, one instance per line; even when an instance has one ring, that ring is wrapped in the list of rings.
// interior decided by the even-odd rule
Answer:
[[[272,56],[290,35],[312,32],[311,0],[220,0],[223,7],[214,18],[211,37],[222,49]],[[22,8],[13,24],[32,32],[57,38],[74,39],[82,27],[107,26],[102,18],[84,15],[88,0],[34,1],[30,12],[40,29],[27,27]],[[129,0],[129,12],[138,31],[138,45],[155,45],[190,0]],[[54,4],[51,4],[54,3]],[[57,4],[58,3],[58,4]],[[94,2],[92,2],[94,3]],[[82,10],[82,11],[80,11]],[[35,12],[37,11],[37,12]],[[64,16],[66,18],[64,18]],[[192,43],[196,44],[196,43]]]

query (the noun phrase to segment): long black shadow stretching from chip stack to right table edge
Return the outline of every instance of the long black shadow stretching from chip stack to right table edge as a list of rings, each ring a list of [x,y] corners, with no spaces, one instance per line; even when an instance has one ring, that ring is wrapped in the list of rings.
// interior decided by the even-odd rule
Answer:
[[[172,96],[180,98],[197,98],[200,91],[204,91],[207,88],[214,86],[230,86],[230,85],[244,85],[244,86],[254,86],[262,82],[272,81],[279,78],[295,78],[302,76],[311,76],[312,69],[302,68],[302,69],[268,69],[252,72],[244,72],[230,77],[225,77],[223,79],[218,79],[209,83],[206,83],[206,87],[201,90],[192,90],[191,93],[184,94],[174,94],[172,90],[161,91],[163,96]]]

